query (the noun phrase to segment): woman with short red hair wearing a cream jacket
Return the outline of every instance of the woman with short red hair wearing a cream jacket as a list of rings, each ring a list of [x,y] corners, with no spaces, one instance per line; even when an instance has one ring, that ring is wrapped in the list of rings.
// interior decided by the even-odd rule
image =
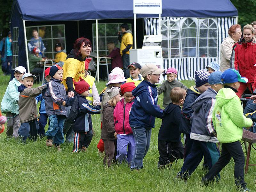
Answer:
[[[220,71],[223,72],[230,68],[230,57],[232,47],[241,39],[241,25],[232,25],[228,29],[228,37],[226,37],[220,45]]]

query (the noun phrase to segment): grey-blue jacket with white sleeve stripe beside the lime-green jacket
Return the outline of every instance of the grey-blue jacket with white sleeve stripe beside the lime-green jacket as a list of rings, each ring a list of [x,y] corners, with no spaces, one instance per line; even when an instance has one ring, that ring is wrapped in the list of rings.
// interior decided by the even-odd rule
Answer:
[[[208,88],[191,104],[194,112],[190,117],[192,124],[190,139],[218,143],[217,138],[214,136],[216,132],[212,123],[212,115],[214,115],[212,112],[216,101],[216,94],[216,91]]]

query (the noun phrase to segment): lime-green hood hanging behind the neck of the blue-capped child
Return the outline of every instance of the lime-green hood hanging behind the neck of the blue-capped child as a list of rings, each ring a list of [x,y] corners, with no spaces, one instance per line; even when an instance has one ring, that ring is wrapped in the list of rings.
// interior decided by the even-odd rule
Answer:
[[[230,88],[222,88],[216,95],[217,105],[221,108],[228,103],[234,97],[237,97],[236,93]]]

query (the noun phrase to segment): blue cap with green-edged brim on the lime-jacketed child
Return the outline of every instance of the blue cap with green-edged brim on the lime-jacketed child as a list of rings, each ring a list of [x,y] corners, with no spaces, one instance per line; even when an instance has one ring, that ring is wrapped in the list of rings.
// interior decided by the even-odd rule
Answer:
[[[248,79],[246,77],[242,77],[236,69],[227,69],[221,75],[222,82],[225,83],[247,83]]]

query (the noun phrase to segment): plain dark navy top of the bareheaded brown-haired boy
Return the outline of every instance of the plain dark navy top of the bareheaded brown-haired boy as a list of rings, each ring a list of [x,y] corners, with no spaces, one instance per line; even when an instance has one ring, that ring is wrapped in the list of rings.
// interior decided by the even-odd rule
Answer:
[[[170,103],[164,109],[162,118],[162,124],[158,132],[158,140],[179,142],[181,107],[179,105]]]

